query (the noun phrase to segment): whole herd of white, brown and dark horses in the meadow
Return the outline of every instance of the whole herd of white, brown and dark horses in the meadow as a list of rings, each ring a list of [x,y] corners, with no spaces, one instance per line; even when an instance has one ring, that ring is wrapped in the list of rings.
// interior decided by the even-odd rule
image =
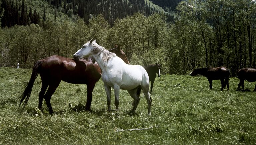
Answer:
[[[124,52],[118,45],[115,45],[115,48],[108,51],[98,45],[96,40],[93,39],[85,43],[82,48],[73,55],[73,58],[74,59],[70,59],[54,55],[39,60],[34,64],[31,78],[25,90],[19,96],[19,106],[23,103],[22,110],[31,95],[35,79],[38,74],[40,74],[42,87],[39,93],[38,108],[42,110],[42,101],[45,99],[50,114],[53,113],[50,100],[61,81],[73,84],[86,84],[87,99],[85,109],[90,110],[93,89],[96,82],[102,78],[107,94],[108,111],[111,111],[111,88],[114,89],[116,109],[118,109],[119,105],[120,89],[128,91],[130,96],[134,99],[132,103],[132,113],[135,113],[142,90],[148,104],[148,115],[151,115],[152,100],[150,92],[152,91],[156,74],[158,74],[158,77],[161,75],[160,64],[156,63],[146,67],[130,65]],[[190,75],[195,76],[197,74],[207,77],[210,83],[210,89],[212,89],[212,80],[219,79],[222,84],[221,90],[223,90],[226,85],[227,89],[229,89],[228,80],[230,70],[226,67],[196,69]],[[256,69],[242,68],[237,71],[237,74],[240,79],[238,87],[242,85],[242,88],[244,88],[244,80],[250,82],[256,81]],[[151,86],[149,86],[150,81]],[[254,91],[256,91],[256,86]]]

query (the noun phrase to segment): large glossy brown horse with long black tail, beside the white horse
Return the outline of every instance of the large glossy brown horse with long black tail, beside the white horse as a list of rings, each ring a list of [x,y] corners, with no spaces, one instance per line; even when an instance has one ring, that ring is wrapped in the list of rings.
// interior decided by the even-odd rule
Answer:
[[[122,55],[125,54],[119,54],[118,56],[122,57]],[[93,58],[73,60],[70,58],[54,55],[37,61],[34,64],[29,83],[22,95],[19,97],[19,106],[25,99],[22,109],[24,109],[27,104],[38,73],[40,74],[42,80],[42,88],[39,93],[38,100],[38,108],[40,110],[42,110],[42,101],[44,98],[49,113],[53,113],[50,100],[53,93],[59,86],[61,80],[72,84],[86,84],[87,99],[85,109],[90,110],[92,102],[92,92],[96,82],[98,82],[101,77],[101,69],[97,62],[93,63]],[[46,92],[47,87],[48,90]]]

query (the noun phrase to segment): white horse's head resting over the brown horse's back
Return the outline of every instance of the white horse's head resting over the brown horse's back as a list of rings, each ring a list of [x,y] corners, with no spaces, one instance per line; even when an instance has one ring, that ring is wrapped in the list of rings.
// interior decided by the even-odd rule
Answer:
[[[91,39],[90,41],[88,41],[87,43],[85,43],[82,48],[80,48],[74,55],[73,58],[75,60],[79,60],[81,58],[85,58],[88,56],[91,56],[91,51],[92,48],[94,48],[95,46],[92,45],[92,43],[96,43],[96,40],[93,41],[93,39]],[[97,43],[96,43],[97,44]]]

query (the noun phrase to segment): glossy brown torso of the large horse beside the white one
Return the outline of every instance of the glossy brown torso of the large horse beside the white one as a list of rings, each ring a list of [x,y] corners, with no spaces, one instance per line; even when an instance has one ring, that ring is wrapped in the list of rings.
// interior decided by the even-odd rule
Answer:
[[[73,84],[87,84],[97,82],[101,77],[101,69],[91,60],[81,59],[75,61],[58,55],[43,60],[40,76],[48,81],[63,80]]]

